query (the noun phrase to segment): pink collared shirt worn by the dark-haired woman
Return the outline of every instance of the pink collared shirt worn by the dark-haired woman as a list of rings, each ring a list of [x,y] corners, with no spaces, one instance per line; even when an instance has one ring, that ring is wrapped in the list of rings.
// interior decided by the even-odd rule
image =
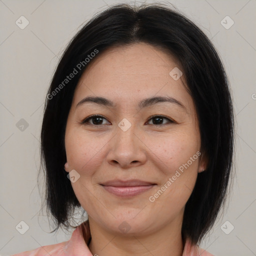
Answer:
[[[68,241],[60,242],[52,245],[45,245],[33,250],[24,251],[10,256],[97,256],[92,255],[87,244],[90,241],[90,229],[88,220],[78,225],[72,233]],[[182,256],[213,256],[206,250],[191,245],[186,240]]]

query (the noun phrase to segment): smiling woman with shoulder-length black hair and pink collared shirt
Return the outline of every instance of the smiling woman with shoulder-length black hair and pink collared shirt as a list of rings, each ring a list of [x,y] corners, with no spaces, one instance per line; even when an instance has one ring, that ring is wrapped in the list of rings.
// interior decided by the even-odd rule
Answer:
[[[45,102],[47,207],[69,241],[15,255],[212,255],[227,192],[228,80],[213,45],[159,4],[111,6],[74,36]]]

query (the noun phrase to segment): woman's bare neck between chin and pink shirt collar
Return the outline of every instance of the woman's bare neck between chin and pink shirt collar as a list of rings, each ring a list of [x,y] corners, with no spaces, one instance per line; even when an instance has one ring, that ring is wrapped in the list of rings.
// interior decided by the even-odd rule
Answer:
[[[109,233],[88,216],[91,240],[88,245],[92,255],[109,256],[181,256],[183,242],[181,223],[169,223],[150,234],[122,235]]]

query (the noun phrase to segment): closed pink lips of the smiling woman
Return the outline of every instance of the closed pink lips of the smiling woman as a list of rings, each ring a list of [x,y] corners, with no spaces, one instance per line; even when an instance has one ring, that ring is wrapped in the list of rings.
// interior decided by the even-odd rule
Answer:
[[[156,185],[156,183],[142,181],[138,179],[132,179],[127,181],[115,179],[101,183],[100,185],[102,185],[102,187],[109,193],[122,197],[130,197],[151,189],[153,186]]]

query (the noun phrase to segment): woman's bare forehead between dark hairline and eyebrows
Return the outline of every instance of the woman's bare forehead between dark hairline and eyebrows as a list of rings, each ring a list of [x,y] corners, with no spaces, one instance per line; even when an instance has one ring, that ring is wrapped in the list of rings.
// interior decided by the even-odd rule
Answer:
[[[175,67],[182,70],[170,53],[140,42],[112,47],[98,54],[78,81],[75,102],[87,94],[125,102],[156,94],[188,100],[182,77],[174,80],[169,75]]]

